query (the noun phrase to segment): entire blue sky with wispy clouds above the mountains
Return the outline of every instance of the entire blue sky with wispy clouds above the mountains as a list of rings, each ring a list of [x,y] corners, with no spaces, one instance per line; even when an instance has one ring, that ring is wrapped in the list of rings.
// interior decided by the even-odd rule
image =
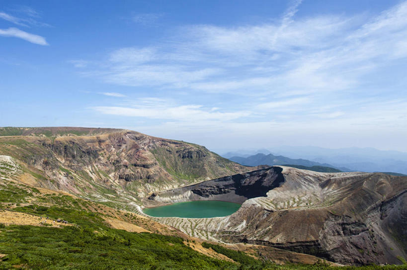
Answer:
[[[2,0],[0,126],[407,152],[407,1]]]

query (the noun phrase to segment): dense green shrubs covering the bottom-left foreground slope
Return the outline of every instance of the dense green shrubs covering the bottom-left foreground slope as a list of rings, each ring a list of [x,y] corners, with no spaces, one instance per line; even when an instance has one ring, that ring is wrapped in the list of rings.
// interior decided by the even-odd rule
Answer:
[[[66,219],[74,226],[1,226],[0,268],[29,269],[237,269],[203,256],[179,237],[111,229],[93,213],[28,205],[15,211]]]

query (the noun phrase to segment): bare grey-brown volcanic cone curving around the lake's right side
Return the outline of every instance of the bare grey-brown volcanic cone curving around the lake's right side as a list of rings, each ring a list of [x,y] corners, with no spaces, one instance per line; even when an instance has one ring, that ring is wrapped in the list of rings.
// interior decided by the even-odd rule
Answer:
[[[159,192],[146,201],[244,201],[231,216],[188,220],[193,230],[185,219],[156,219],[208,239],[342,264],[400,264],[407,252],[406,190],[406,177],[271,167]]]

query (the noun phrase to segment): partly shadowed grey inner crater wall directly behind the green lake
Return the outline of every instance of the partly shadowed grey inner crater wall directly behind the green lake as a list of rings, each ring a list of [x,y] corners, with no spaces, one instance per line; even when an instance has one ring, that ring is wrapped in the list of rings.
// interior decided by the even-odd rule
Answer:
[[[243,203],[246,199],[266,196],[284,182],[279,167],[204,181],[190,186],[154,193],[150,200],[161,202],[189,200],[222,200]]]

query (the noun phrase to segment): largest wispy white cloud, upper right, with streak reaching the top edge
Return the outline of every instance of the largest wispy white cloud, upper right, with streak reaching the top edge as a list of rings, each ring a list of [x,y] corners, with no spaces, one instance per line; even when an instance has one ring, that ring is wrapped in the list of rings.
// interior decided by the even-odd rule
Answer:
[[[406,2],[365,22],[344,15],[296,20],[300,3],[293,1],[280,23],[182,27],[166,44],[113,51],[107,69],[86,75],[128,86],[312,93],[357,87],[382,63],[406,57]]]

